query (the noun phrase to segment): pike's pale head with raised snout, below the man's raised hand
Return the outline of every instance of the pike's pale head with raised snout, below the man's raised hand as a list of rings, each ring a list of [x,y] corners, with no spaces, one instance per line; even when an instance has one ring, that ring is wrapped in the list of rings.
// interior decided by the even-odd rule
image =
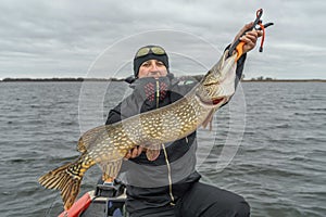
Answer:
[[[217,107],[235,93],[236,55],[227,58],[227,51],[217,64],[202,78],[196,97],[202,105]]]

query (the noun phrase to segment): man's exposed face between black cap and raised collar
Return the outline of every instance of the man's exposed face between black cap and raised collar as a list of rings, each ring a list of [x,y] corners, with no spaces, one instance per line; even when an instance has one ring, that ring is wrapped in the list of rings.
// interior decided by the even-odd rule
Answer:
[[[167,69],[165,65],[158,60],[148,60],[143,62],[139,67],[138,77],[164,77],[167,75]]]

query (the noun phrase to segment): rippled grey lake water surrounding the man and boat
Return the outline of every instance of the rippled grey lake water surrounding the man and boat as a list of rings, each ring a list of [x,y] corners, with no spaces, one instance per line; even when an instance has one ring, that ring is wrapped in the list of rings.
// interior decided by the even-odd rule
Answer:
[[[61,213],[60,193],[37,179],[77,157],[80,133],[103,123],[126,94],[123,82],[106,86],[0,82],[1,216]],[[326,82],[241,86],[243,94],[234,101],[244,106],[235,119],[230,103],[215,115],[212,132],[199,133],[203,181],[244,196],[252,216],[326,216]],[[228,141],[233,130],[237,141]],[[229,142],[240,145],[224,149]],[[86,174],[82,193],[100,174],[98,167]]]

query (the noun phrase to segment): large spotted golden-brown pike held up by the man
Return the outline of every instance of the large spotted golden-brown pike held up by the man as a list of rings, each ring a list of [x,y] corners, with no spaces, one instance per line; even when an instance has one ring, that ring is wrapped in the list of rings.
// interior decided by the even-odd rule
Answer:
[[[235,93],[237,54],[221,60],[183,99],[158,110],[86,131],[78,140],[79,157],[39,178],[48,189],[61,191],[68,209],[78,195],[84,174],[98,164],[108,177],[118,175],[126,153],[142,145],[148,158],[161,144],[187,137],[200,126],[206,127],[213,114]]]

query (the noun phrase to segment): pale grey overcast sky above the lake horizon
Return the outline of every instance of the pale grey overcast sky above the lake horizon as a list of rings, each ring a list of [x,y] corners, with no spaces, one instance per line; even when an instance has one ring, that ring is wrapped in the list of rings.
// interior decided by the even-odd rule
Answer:
[[[204,73],[260,8],[275,25],[246,77],[326,79],[321,0],[1,0],[0,79],[124,77],[149,43],[166,49],[172,72]]]

